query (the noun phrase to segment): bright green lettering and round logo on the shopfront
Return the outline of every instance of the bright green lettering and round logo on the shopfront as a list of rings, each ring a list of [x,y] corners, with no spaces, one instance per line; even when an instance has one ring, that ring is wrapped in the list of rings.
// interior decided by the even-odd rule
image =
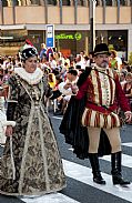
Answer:
[[[61,33],[61,34],[55,34],[55,40],[81,40],[82,34],[80,32],[77,32],[74,34],[67,34],[67,33]]]

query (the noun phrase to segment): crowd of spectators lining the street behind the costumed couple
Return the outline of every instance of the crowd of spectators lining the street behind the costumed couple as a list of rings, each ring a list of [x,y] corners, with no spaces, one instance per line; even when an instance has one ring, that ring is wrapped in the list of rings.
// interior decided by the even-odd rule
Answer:
[[[54,114],[62,115],[65,111],[67,104],[70,100],[70,97],[77,92],[77,81],[79,75],[85,70],[87,67],[94,65],[94,59],[92,52],[89,55],[82,50],[75,57],[63,57],[61,52],[50,51],[47,53],[47,50],[38,57],[38,67],[43,71],[48,77],[48,82],[50,88],[53,90],[53,94],[48,102],[48,109],[51,109],[54,105]],[[115,50],[111,51],[110,55],[110,68],[114,69],[120,75],[120,82],[122,89],[128,97],[131,109],[132,109],[132,68],[128,61],[122,61]],[[19,67],[22,67],[20,55],[16,57],[4,55],[0,57],[0,92],[4,97],[4,100],[8,99],[8,80],[13,70]]]

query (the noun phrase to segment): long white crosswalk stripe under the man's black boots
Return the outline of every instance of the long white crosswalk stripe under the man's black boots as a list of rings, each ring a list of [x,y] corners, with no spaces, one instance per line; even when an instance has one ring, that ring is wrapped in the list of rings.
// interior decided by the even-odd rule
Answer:
[[[104,191],[106,193],[113,194],[114,196],[132,202],[132,184],[130,184],[128,187],[113,185],[111,175],[102,173],[102,176],[106,181],[106,185],[99,185],[92,181],[91,169],[67,160],[63,160],[63,166],[67,176]]]

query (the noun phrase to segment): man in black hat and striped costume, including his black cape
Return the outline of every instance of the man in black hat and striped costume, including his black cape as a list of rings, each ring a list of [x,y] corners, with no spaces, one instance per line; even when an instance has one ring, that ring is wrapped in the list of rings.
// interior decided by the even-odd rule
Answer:
[[[89,150],[87,148],[87,151],[89,152],[88,156],[92,166],[93,181],[98,184],[105,184],[105,181],[101,175],[99,164],[99,148],[101,134],[103,131],[110,144],[112,166],[111,174],[113,184],[125,185],[130,184],[130,182],[125,181],[121,174],[122,152],[120,126],[122,123],[116,112],[120,106],[124,111],[125,121],[130,122],[131,110],[124,92],[122,91],[118,73],[109,68],[109,55],[110,52],[105,43],[100,43],[95,45],[95,65],[93,68],[89,68],[89,70],[85,70],[85,72],[81,74],[78,81],[79,91],[75,99],[81,103],[81,101],[87,97],[84,111],[82,113],[81,111],[79,112],[79,110],[77,109],[75,111],[78,114],[75,115],[74,112],[74,116],[71,115],[70,113],[73,114],[72,106],[74,108],[74,104],[71,104],[71,101],[69,103],[71,106],[68,106],[68,111],[70,112],[65,112],[65,118],[63,118],[63,120],[65,120],[67,118],[70,119],[67,122],[65,126],[62,121],[60,131],[63,131],[62,133],[65,135],[65,140],[68,141],[68,143],[72,144],[74,153],[77,153],[79,158],[81,158],[81,155],[83,155],[83,158],[87,158],[87,155],[82,153],[82,151],[85,152],[85,148],[89,145]],[[73,123],[74,121],[72,121],[72,119],[77,120],[77,118],[80,116],[79,113],[82,113],[81,123],[84,129],[82,129],[81,124],[79,125],[80,119],[77,121],[78,124],[75,126]],[[80,132],[77,132],[77,129]],[[88,142],[88,140],[87,138],[84,138],[85,129],[87,135],[89,135],[88,145],[85,145],[85,141]],[[70,139],[72,141],[70,141]],[[80,144],[81,140],[83,142],[82,145]],[[108,148],[103,143],[101,150],[104,146]]]

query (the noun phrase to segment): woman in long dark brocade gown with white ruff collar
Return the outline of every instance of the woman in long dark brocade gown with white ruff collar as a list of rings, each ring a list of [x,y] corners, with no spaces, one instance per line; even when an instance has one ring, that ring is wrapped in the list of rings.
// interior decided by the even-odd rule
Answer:
[[[24,45],[23,68],[9,80],[7,142],[0,160],[0,193],[41,195],[60,191],[65,176],[57,140],[44,106],[51,92],[47,78],[37,68],[37,50]]]

